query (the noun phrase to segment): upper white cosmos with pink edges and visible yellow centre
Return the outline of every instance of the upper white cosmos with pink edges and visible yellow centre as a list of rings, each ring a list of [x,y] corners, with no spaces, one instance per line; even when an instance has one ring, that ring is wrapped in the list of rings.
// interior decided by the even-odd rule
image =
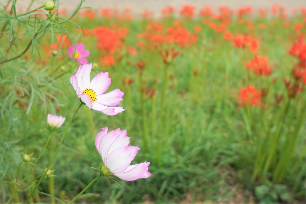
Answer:
[[[76,91],[76,95],[81,98],[81,101],[88,106],[89,109],[94,109],[105,113],[106,115],[117,115],[125,109],[116,106],[122,101],[124,93],[119,89],[115,89],[106,94],[103,94],[110,86],[111,79],[108,77],[108,72],[100,72],[90,81],[90,65],[80,65],[75,75],[70,77],[70,83]]]

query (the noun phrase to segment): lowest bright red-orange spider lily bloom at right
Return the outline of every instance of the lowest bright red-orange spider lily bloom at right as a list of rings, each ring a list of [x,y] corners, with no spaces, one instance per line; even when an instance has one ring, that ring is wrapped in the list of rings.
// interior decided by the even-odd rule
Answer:
[[[261,103],[261,92],[257,91],[253,86],[247,86],[242,88],[239,93],[239,106],[250,104],[251,106],[258,105]]]

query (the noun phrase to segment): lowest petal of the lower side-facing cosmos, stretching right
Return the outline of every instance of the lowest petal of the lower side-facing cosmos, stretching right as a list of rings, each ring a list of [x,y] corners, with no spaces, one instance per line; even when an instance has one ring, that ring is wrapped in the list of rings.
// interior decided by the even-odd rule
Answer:
[[[140,178],[148,178],[151,176],[151,173],[148,172],[148,166],[150,162],[139,163],[135,165],[130,165],[125,171],[121,173],[114,173],[122,180],[133,181]]]

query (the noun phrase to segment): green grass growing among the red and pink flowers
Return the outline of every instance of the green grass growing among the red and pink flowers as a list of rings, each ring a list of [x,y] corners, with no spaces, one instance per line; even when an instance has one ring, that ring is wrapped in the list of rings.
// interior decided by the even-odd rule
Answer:
[[[198,25],[202,30],[197,34],[197,42],[191,46],[180,47],[173,43],[162,44],[159,49],[136,47],[137,34],[144,33],[150,21],[143,19],[124,20],[106,19],[95,17],[76,16],[73,18],[77,24],[85,29],[93,29],[100,25],[110,27],[116,23],[118,28],[127,28],[129,34],[124,37],[122,47],[113,56],[115,65],[103,68],[101,64],[92,70],[91,79],[99,72],[107,71],[112,79],[108,89],[111,91],[120,88],[125,93],[119,106],[126,110],[116,116],[107,116],[99,111],[89,110],[87,106],[81,107],[68,129],[64,143],[54,163],[55,196],[68,202],[73,199],[91,180],[99,175],[94,168],[99,168],[95,156],[95,134],[100,128],[108,127],[127,129],[131,137],[130,145],[140,147],[132,162],[139,163],[150,161],[149,171],[152,176],[132,182],[121,181],[115,183],[109,178],[100,177],[76,203],[187,203],[207,202],[260,202],[264,201],[255,195],[257,186],[267,184],[273,180],[274,165],[277,164],[282,153],[286,135],[293,135],[297,126],[298,116],[304,117],[306,102],[305,90],[296,98],[290,99],[287,114],[282,121],[282,132],[278,141],[276,155],[272,167],[267,172],[262,172],[255,181],[252,180],[258,137],[266,137],[266,132],[261,119],[271,127],[275,133],[277,128],[278,113],[284,103],[274,104],[274,94],[282,94],[287,98],[287,90],[283,78],[289,79],[293,65],[298,60],[288,54],[291,45],[295,43],[299,33],[305,34],[304,28],[298,32],[293,31],[293,25],[303,23],[303,17],[294,15],[286,21],[290,28],[284,28],[285,20],[272,17],[252,19],[256,30],[250,31],[245,24],[240,25],[234,18],[226,29],[236,34],[250,34],[259,41],[259,56],[270,59],[273,69],[270,76],[256,76],[251,70],[246,70],[245,65],[253,57],[247,48],[235,48],[231,42],[223,40],[223,33],[215,33],[207,24],[203,25],[201,19],[188,19],[179,17],[189,32],[194,33],[193,27]],[[166,28],[172,27],[176,19],[165,18],[159,20]],[[59,21],[60,22],[60,21]],[[214,20],[220,23],[218,20]],[[265,29],[260,29],[259,24],[264,23]],[[3,23],[1,22],[1,28]],[[10,25],[9,25],[10,26]],[[72,29],[73,24],[65,24],[65,29]],[[16,27],[17,28],[17,27]],[[8,32],[1,39],[1,53],[7,49]],[[23,32],[25,27],[17,28]],[[62,29],[63,30],[63,29]],[[70,32],[72,38],[78,43],[84,43],[85,49],[90,50],[88,62],[99,63],[102,54],[95,48],[96,38],[83,37],[79,31]],[[56,34],[55,36],[58,36]],[[275,38],[277,36],[277,38]],[[56,144],[79,105],[79,100],[72,89],[69,78],[75,74],[78,64],[69,59],[67,48],[57,56],[48,56],[43,47],[50,45],[52,33],[47,32],[41,39],[36,39],[41,51],[43,65],[38,58],[38,53],[33,48],[30,58],[20,57],[15,61],[3,64],[1,67],[4,76],[1,79],[1,143],[0,143],[0,176],[1,176],[1,202],[6,202],[12,195],[8,182],[16,180],[18,165],[22,161],[25,150],[27,154],[34,153],[32,158],[37,158],[43,149],[48,130],[45,128],[47,114],[55,114],[55,108],[60,108],[57,115],[66,117],[63,127],[58,129],[53,137]],[[24,32],[20,42],[12,47],[9,57],[21,53],[31,40],[31,35]],[[142,39],[145,41],[145,39]],[[56,43],[54,41],[54,43]],[[137,55],[126,55],[126,48],[132,46],[137,50]],[[159,50],[175,47],[180,54],[173,63],[166,66]],[[31,48],[32,49],[32,48]],[[29,50],[27,55],[31,56]],[[119,61],[118,58],[121,57]],[[1,54],[1,60],[3,55]],[[64,67],[52,73],[58,66],[67,61]],[[143,61],[145,68],[139,75],[136,63]],[[165,85],[164,104],[161,104],[163,71],[166,70],[167,84]],[[194,70],[198,71],[195,76]],[[52,73],[52,74],[51,74]],[[64,73],[64,74],[63,74]],[[63,75],[62,75],[63,74]],[[172,75],[172,78],[169,76]],[[56,76],[61,76],[55,79]],[[24,77],[27,80],[24,80]],[[124,78],[132,78],[130,86],[124,85]],[[154,80],[157,82],[154,83]],[[276,79],[275,83],[272,80]],[[145,83],[143,83],[145,80]],[[141,103],[141,86],[150,84],[156,88],[152,98],[144,98]],[[171,85],[171,88],[169,88]],[[247,107],[238,106],[239,91],[242,87],[253,85],[269,89],[268,95],[263,99],[263,106],[250,108],[252,117],[248,117]],[[25,96],[18,95],[16,89],[25,91]],[[13,95],[10,95],[13,93]],[[34,94],[35,93],[35,94]],[[54,101],[47,96],[53,96]],[[19,101],[26,105],[18,105]],[[31,107],[29,108],[29,105]],[[146,127],[144,130],[141,107],[144,106]],[[152,109],[152,107],[154,107]],[[299,108],[300,107],[300,108]],[[152,112],[152,110],[155,112]],[[299,113],[299,111],[302,112]],[[300,114],[300,115],[299,115]],[[93,121],[93,122],[92,122]],[[155,121],[155,122],[154,122]],[[250,130],[246,122],[250,122]],[[154,124],[154,125],[152,125]],[[290,126],[286,126],[291,124]],[[302,203],[305,202],[305,117],[302,128],[298,130],[297,141],[294,144],[292,158],[288,160],[285,176],[280,184],[285,184],[286,192],[291,198],[289,201],[275,199],[276,202]],[[148,134],[148,152],[144,153],[143,135]],[[270,143],[264,144],[263,149],[269,149]],[[160,146],[160,147],[159,147]],[[161,159],[158,158],[158,148],[161,150]],[[23,189],[33,184],[33,178],[41,175],[49,164],[48,152],[43,155],[39,164],[34,167],[30,163],[22,163],[19,178],[22,180]],[[101,158],[98,154],[98,160]],[[35,160],[33,160],[35,161]],[[298,175],[298,176],[297,176]],[[36,178],[37,179],[37,178]],[[38,177],[39,179],[39,177]],[[268,189],[274,189],[273,183]],[[43,180],[38,191],[48,193],[48,180]],[[19,191],[20,202],[27,198],[26,192]],[[66,197],[67,196],[67,197]],[[256,198],[257,196],[257,198]],[[270,196],[267,193],[267,196]],[[265,197],[266,198],[266,197]],[[40,195],[41,202],[49,202],[49,198]],[[260,200],[261,199],[261,200]],[[34,197],[34,201],[37,200]]]

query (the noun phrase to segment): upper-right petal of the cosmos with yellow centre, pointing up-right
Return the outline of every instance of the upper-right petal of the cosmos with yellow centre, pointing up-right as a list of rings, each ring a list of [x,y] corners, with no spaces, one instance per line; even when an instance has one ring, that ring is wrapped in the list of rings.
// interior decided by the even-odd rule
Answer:
[[[96,95],[104,93],[110,86],[111,79],[108,77],[108,72],[100,72],[90,82],[91,89],[95,90]]]

